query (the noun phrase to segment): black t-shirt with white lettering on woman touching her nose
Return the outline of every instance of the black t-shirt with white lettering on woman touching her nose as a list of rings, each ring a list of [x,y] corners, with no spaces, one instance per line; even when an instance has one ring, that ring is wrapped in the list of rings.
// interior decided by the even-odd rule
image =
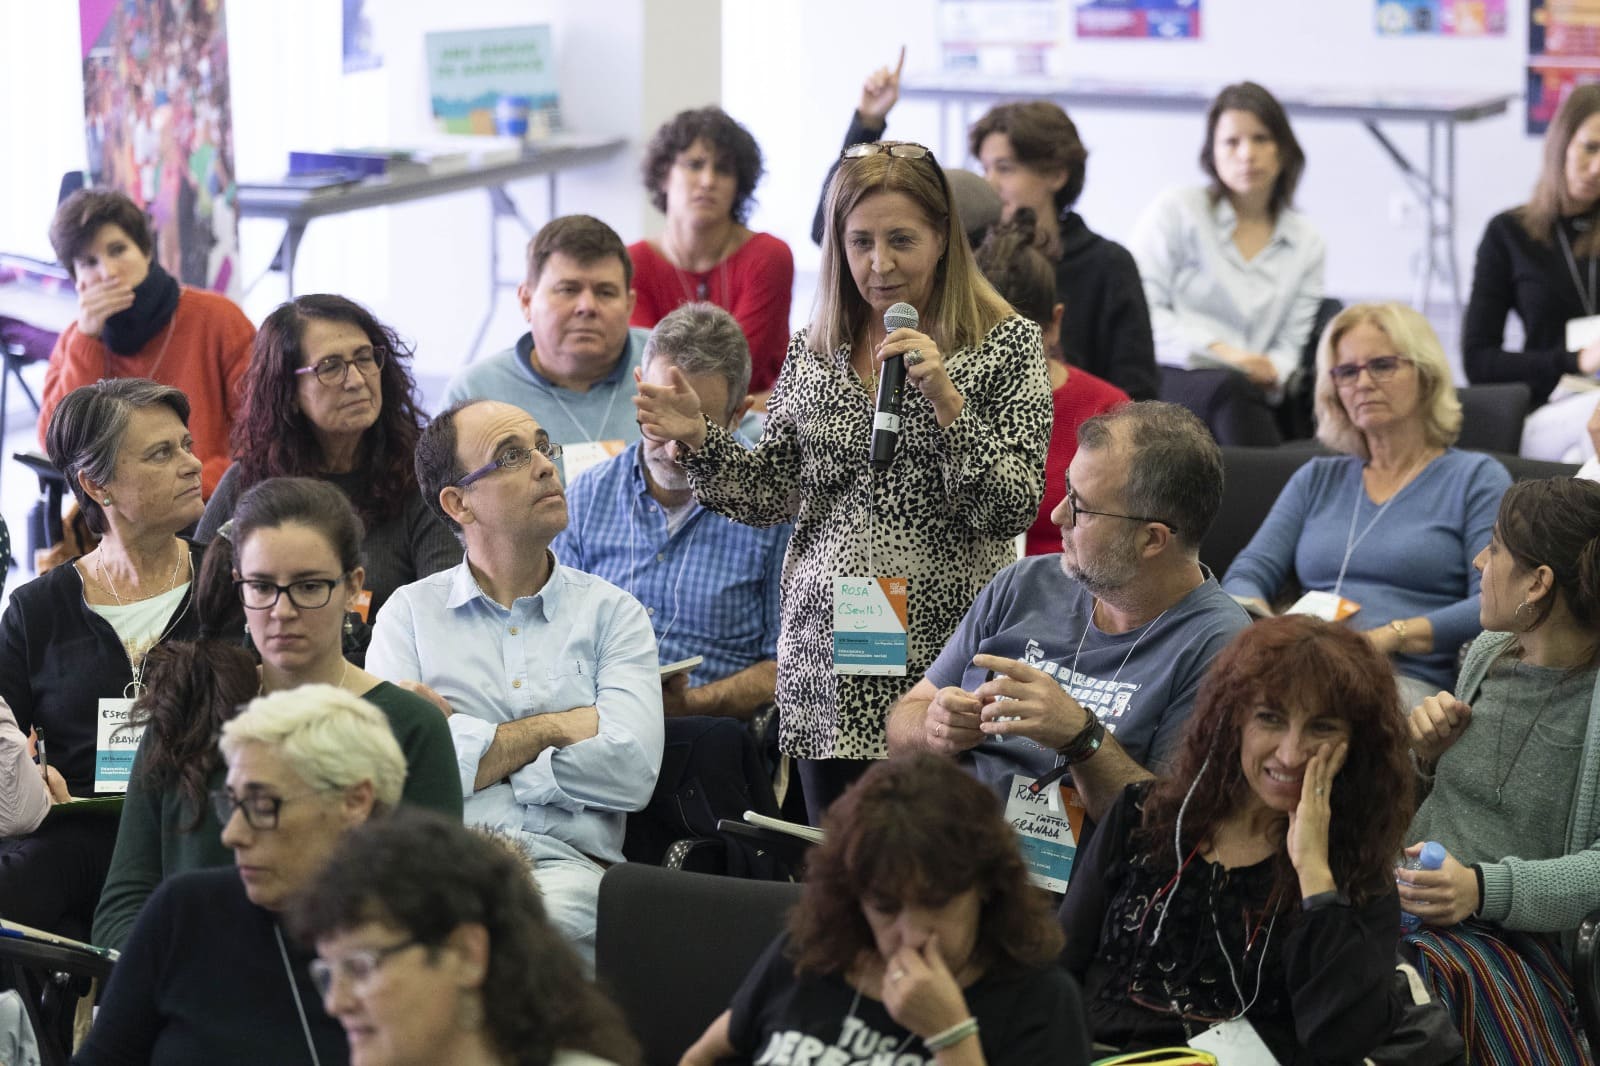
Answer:
[[[733,997],[734,1061],[752,1066],[933,1066],[922,1039],[838,976],[798,976],[779,936]],[[965,989],[989,1066],[1088,1063],[1077,983],[1061,968],[986,973]]]

